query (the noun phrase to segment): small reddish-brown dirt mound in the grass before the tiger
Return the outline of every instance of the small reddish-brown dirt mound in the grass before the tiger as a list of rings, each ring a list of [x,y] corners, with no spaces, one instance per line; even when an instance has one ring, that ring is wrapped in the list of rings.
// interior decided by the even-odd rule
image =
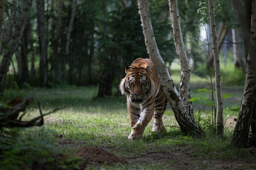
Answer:
[[[85,161],[98,164],[110,165],[118,162],[127,162],[125,159],[116,157],[114,153],[108,152],[102,147],[82,147],[74,156],[81,156]]]

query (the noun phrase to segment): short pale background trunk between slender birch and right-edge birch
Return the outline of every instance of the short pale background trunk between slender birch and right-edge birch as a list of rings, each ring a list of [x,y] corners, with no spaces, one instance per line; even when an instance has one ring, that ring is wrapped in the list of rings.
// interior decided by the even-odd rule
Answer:
[[[241,53],[239,50],[239,45],[236,44],[238,42],[237,28],[232,29],[232,42],[233,42],[233,52],[234,52],[234,65],[236,68],[239,68],[242,66],[242,63],[240,62]]]

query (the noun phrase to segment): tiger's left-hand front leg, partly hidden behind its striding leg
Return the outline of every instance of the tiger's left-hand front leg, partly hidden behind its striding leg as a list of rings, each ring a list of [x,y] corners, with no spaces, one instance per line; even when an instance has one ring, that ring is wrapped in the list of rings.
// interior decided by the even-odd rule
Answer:
[[[129,112],[130,125],[131,127],[133,127],[138,122],[138,119],[140,117],[140,105],[136,105],[134,103],[129,104],[129,102],[127,102],[127,110]]]

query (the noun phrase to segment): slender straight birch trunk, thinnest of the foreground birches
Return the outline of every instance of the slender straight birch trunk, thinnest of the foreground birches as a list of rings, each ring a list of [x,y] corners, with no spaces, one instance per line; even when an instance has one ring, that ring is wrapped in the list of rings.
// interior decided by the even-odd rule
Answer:
[[[223,102],[221,95],[221,68],[219,60],[219,51],[217,45],[217,34],[216,34],[216,25],[215,25],[215,15],[214,15],[214,6],[213,0],[208,0],[209,4],[209,18],[212,34],[212,50],[214,57],[214,67],[215,67],[215,87],[216,87],[216,98],[217,98],[217,117],[216,117],[216,130],[217,134],[221,137],[224,136],[224,122],[223,122]]]

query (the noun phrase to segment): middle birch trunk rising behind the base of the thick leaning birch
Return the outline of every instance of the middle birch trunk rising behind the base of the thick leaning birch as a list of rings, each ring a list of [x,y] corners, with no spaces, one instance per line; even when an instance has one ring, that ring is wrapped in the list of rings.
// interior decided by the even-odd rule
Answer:
[[[185,51],[181,27],[179,22],[179,10],[177,0],[169,0],[169,8],[171,14],[171,26],[174,35],[174,44],[176,53],[180,62],[180,83],[179,95],[183,101],[185,109],[190,116],[193,116],[192,102],[189,101],[190,97],[190,66],[188,57]]]

